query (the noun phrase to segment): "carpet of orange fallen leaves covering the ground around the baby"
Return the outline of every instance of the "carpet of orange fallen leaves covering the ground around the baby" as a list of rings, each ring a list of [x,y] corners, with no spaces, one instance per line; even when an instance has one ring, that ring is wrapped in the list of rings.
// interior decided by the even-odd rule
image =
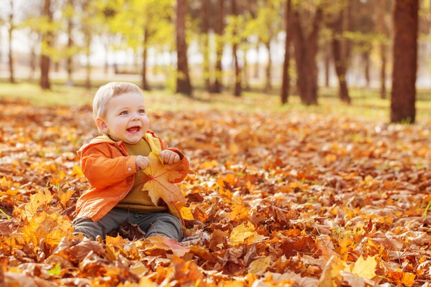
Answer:
[[[185,242],[92,242],[71,233],[90,107],[0,109],[0,286],[429,286],[430,123],[156,111],[194,172]]]

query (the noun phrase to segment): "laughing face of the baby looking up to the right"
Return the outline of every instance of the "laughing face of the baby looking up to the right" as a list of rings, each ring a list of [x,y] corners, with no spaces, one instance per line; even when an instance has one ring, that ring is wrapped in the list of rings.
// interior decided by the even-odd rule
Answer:
[[[134,144],[143,138],[149,127],[142,94],[128,93],[114,96],[107,103],[105,118],[96,123],[105,134],[115,140]]]

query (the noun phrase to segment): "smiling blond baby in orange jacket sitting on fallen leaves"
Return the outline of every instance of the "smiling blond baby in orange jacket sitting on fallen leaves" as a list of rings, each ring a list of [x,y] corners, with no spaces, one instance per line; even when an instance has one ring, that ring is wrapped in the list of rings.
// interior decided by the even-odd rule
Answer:
[[[93,114],[103,135],[78,151],[90,189],[76,202],[74,233],[105,238],[129,222],[137,224],[145,237],[162,235],[180,242],[184,221],[179,209],[174,202],[151,201],[141,185],[149,178],[142,170],[149,166],[151,151],[159,153],[164,164],[181,161],[188,168],[189,162],[148,130],[143,92],[132,83],[103,85],[94,97]]]

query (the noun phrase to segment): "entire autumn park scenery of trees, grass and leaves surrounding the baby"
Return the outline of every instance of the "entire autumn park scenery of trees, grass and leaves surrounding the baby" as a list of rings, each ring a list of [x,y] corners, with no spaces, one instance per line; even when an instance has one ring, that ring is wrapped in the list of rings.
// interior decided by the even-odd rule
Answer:
[[[429,286],[430,1],[0,4],[0,286]],[[109,81],[190,159],[185,242],[71,233]]]

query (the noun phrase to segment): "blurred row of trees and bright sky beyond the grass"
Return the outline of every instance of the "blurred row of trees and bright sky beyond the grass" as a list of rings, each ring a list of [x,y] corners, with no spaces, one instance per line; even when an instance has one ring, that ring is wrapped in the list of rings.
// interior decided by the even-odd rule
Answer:
[[[414,104],[415,89],[431,88],[430,2],[0,0],[0,78],[42,89],[116,80],[187,96],[256,91],[304,105],[325,87],[344,103],[358,87],[390,98],[397,82]],[[411,111],[392,120],[406,118],[414,122]]]

